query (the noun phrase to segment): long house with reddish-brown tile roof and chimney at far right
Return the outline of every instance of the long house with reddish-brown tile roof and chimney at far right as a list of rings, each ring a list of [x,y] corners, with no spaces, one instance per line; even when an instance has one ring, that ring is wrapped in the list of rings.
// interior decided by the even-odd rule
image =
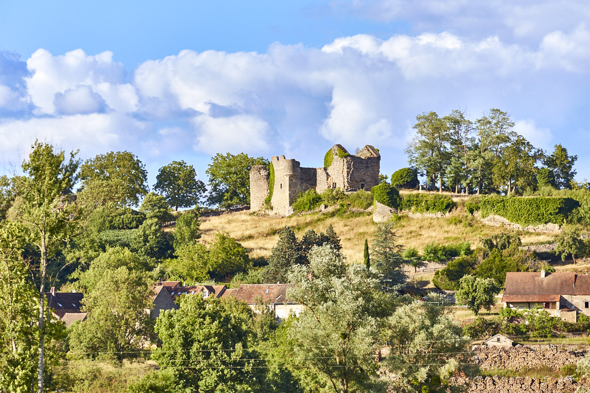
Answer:
[[[576,322],[577,315],[590,316],[590,275],[573,272],[509,272],[502,296],[504,307],[541,307],[553,316]]]

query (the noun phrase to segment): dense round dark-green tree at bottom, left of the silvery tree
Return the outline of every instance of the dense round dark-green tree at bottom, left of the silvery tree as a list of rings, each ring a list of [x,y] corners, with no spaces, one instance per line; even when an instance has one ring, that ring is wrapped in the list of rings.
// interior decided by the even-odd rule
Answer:
[[[178,310],[162,312],[156,322],[162,346],[153,359],[160,372],[172,371],[174,391],[261,391],[264,363],[248,348],[249,320],[244,303],[183,296]]]

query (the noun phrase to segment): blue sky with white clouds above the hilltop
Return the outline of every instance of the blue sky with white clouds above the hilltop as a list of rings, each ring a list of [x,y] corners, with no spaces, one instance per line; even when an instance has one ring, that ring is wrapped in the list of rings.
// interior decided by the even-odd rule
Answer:
[[[0,174],[36,140],[131,151],[150,186],[217,153],[408,166],[416,116],[499,108],[590,179],[586,0],[1,1]]]

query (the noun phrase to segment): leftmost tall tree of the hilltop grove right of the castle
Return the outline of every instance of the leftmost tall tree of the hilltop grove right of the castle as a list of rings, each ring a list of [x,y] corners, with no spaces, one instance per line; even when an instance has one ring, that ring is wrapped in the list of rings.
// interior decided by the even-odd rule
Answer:
[[[417,115],[416,120],[418,123],[413,127],[416,136],[406,148],[409,164],[430,178],[432,188],[438,179],[438,190],[442,192],[442,177],[449,161],[447,123],[435,112]]]

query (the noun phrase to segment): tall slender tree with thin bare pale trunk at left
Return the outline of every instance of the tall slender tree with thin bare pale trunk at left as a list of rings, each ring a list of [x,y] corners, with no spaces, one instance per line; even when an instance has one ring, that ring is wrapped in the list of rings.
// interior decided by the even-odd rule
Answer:
[[[22,222],[30,227],[32,242],[40,252],[40,266],[37,273],[39,283],[39,347],[37,384],[42,393],[44,387],[44,349],[45,349],[45,281],[47,268],[54,260],[55,253],[64,240],[70,237],[73,229],[71,205],[66,197],[76,181],[79,160],[71,152],[65,160],[64,151],[54,151],[50,144],[35,141],[31,153],[22,163],[25,176],[19,184],[19,194],[23,203],[19,212]]]

